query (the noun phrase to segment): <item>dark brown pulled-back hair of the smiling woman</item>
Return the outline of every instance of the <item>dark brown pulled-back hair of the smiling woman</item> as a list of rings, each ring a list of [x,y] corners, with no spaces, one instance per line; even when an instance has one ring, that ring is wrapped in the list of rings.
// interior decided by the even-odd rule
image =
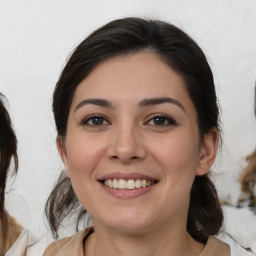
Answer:
[[[65,140],[67,120],[79,83],[101,62],[114,56],[150,51],[160,56],[184,79],[197,111],[200,139],[217,128],[220,139],[219,108],[213,75],[197,43],[169,23],[124,18],[100,27],[82,41],[68,60],[53,94],[53,113],[58,136]],[[69,179],[61,175],[46,203],[45,212],[53,236],[71,208],[79,208],[77,223],[86,212],[78,202]],[[216,189],[207,175],[196,176],[191,190],[187,231],[199,242],[219,232],[223,213]]]

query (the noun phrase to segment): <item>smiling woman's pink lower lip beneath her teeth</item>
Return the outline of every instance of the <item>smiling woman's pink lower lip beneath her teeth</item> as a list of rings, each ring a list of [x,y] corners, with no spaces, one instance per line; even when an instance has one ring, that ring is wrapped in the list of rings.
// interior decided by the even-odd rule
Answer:
[[[116,189],[116,188],[110,188],[105,186],[100,182],[101,186],[105,191],[107,191],[109,194],[111,194],[114,197],[117,198],[123,198],[123,199],[128,199],[128,198],[136,198],[139,196],[142,196],[149,192],[156,184],[153,184],[149,187],[145,188],[136,188],[136,189]]]

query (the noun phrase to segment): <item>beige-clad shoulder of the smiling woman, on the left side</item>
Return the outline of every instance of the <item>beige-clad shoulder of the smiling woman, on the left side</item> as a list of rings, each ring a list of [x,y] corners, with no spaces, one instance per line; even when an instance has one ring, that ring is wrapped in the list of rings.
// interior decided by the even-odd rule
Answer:
[[[43,256],[80,255],[83,252],[84,240],[92,233],[93,228],[87,228],[71,237],[55,241],[46,248]]]

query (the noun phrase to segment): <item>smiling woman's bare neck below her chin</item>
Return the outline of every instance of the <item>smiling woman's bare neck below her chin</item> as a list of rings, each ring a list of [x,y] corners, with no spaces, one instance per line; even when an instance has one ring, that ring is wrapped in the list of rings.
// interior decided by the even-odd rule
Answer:
[[[94,228],[95,233],[86,241],[85,255],[107,256],[111,252],[112,256],[193,256],[199,255],[204,248],[183,227],[132,233],[102,229],[97,225]]]

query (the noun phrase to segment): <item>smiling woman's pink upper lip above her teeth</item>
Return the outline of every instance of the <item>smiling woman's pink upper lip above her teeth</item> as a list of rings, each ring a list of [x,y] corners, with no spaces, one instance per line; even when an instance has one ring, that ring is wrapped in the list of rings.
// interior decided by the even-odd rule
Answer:
[[[108,180],[108,179],[123,179],[123,180],[147,180],[147,181],[156,181],[157,178],[152,176],[148,176],[141,173],[127,173],[127,172],[112,172],[108,174],[104,174],[98,178],[99,181]]]

